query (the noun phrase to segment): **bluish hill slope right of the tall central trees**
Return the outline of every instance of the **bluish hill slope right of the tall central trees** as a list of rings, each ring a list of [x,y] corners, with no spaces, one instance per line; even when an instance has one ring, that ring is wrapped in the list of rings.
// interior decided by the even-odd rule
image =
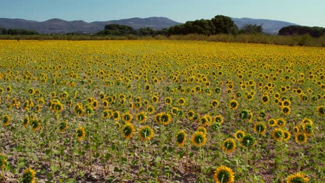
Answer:
[[[256,24],[258,26],[262,25],[263,32],[269,34],[278,34],[278,30],[285,26],[297,25],[294,23],[286,22],[286,21],[278,21],[272,19],[249,19],[249,18],[231,18],[233,22],[238,26],[238,28],[242,28],[244,24]]]

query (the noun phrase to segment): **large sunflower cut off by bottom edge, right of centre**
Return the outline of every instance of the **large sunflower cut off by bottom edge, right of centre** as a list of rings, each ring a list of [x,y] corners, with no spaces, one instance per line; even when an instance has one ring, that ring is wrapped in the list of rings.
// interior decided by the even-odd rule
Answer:
[[[213,175],[213,179],[216,183],[233,183],[234,178],[235,173],[233,173],[233,170],[227,166],[219,166]]]

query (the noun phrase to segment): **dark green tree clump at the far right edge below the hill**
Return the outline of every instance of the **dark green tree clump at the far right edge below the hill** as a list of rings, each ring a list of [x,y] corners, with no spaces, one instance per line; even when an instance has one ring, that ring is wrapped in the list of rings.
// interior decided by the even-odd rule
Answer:
[[[311,37],[322,37],[325,28],[309,26],[286,26],[278,30],[278,35],[310,35]]]

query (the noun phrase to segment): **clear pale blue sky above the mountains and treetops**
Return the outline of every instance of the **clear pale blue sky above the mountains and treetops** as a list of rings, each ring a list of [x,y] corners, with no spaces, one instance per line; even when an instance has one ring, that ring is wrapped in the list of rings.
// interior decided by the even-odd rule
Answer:
[[[178,22],[228,17],[325,27],[325,0],[0,0],[0,17],[108,21],[168,17]]]

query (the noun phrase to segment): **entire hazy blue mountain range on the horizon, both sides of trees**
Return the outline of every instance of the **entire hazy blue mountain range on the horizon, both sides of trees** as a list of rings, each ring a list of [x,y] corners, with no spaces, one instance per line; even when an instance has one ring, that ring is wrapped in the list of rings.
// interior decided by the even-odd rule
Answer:
[[[262,25],[265,33],[276,34],[284,26],[297,25],[286,21],[276,21],[270,19],[249,19],[232,18],[234,23],[241,28],[244,24]],[[22,28],[26,30],[36,30],[38,33],[97,33],[103,30],[107,24],[122,24],[132,26],[135,29],[151,27],[155,30],[169,28],[182,23],[168,19],[166,17],[131,18],[110,21],[92,21],[90,23],[83,20],[65,21],[63,19],[49,19],[47,21],[33,21],[26,19],[0,18],[0,28]]]

